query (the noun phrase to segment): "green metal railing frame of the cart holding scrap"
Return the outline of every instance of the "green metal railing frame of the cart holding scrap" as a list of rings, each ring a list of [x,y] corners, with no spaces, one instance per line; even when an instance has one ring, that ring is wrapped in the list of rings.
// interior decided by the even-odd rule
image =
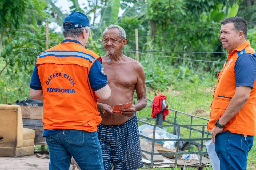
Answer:
[[[147,99],[152,102],[152,100],[147,97]],[[147,106],[147,107],[151,107],[151,106]],[[153,168],[154,165],[153,165],[153,157],[154,155],[175,155],[175,166],[177,165],[177,161],[178,161],[178,155],[184,155],[184,154],[199,154],[200,157],[199,157],[199,164],[198,166],[196,167],[204,167],[205,164],[202,164],[202,156],[207,154],[207,152],[203,151],[203,148],[205,148],[205,145],[204,145],[204,142],[203,141],[208,141],[211,139],[211,137],[209,138],[209,135],[211,135],[211,133],[209,133],[209,131],[205,128],[207,128],[206,124],[198,124],[198,125],[193,125],[192,122],[193,122],[193,118],[198,118],[198,119],[201,119],[201,120],[205,120],[205,121],[209,121],[209,119],[207,118],[203,118],[203,117],[199,117],[199,116],[195,116],[195,115],[192,115],[192,114],[188,114],[188,113],[185,113],[185,112],[181,112],[181,111],[177,111],[175,109],[170,109],[170,108],[165,108],[165,109],[168,109],[170,111],[173,111],[175,112],[175,116],[174,116],[174,122],[171,122],[171,121],[167,121],[167,120],[163,120],[162,122],[165,122],[166,124],[157,124],[157,121],[155,118],[137,118],[137,121],[138,122],[141,122],[143,124],[147,124],[147,125],[150,125],[150,126],[153,126],[153,138],[150,138],[150,137],[146,137],[144,135],[139,135],[140,137],[142,138],[145,138],[145,139],[149,139],[152,141],[152,149],[151,149],[151,152],[149,151],[145,151],[145,150],[141,150],[142,152],[145,152],[147,154],[150,154],[151,155],[151,159],[150,159],[150,165],[148,167],[150,168]],[[158,113],[159,114],[159,113]],[[183,114],[183,115],[186,115],[186,116],[190,116],[190,124],[188,125],[180,125],[177,123],[177,116],[178,114]],[[156,124],[152,124],[152,123],[149,123],[147,121],[156,121]],[[155,139],[155,133],[156,133],[156,127],[159,127],[159,128],[163,128],[163,127],[173,127],[173,134],[177,135],[177,139]],[[180,138],[181,137],[181,133],[180,133],[180,128],[186,128],[186,129],[189,129],[189,136],[188,138]],[[199,129],[196,129],[195,127],[200,127]],[[177,130],[178,129],[178,130]],[[178,131],[178,133],[177,133]],[[192,131],[196,131],[198,133],[201,133],[201,138],[191,138],[191,132]],[[177,133],[177,134],[176,134]],[[154,144],[155,142],[158,142],[158,141],[177,141],[176,142],[176,152],[165,152],[165,153],[154,153]],[[179,141],[186,141],[186,142],[189,142],[189,147],[190,147],[190,144],[194,144],[194,145],[198,145],[200,147],[200,151],[193,151],[191,152],[190,150],[188,152],[179,152]],[[198,142],[194,142],[194,141],[201,141],[200,143]],[[193,166],[193,167],[195,167]],[[188,166],[185,166],[185,167],[188,167]]]

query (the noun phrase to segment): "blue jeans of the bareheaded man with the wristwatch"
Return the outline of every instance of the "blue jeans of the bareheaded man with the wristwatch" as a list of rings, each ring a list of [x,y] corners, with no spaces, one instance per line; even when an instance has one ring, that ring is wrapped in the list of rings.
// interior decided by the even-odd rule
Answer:
[[[244,170],[248,152],[253,146],[253,136],[223,131],[216,135],[215,151],[219,157],[221,170]]]

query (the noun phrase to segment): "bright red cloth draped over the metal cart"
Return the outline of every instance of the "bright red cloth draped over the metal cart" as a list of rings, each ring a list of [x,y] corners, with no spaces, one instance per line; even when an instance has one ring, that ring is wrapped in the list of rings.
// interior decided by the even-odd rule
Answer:
[[[161,112],[161,108],[162,108],[162,100],[165,99],[166,100],[166,95],[160,94],[154,97],[154,101],[152,104],[152,114],[151,117],[155,118],[156,114]],[[168,104],[166,106],[168,108]],[[169,114],[169,110],[167,109],[163,109],[163,120],[165,120],[165,116],[167,116]]]

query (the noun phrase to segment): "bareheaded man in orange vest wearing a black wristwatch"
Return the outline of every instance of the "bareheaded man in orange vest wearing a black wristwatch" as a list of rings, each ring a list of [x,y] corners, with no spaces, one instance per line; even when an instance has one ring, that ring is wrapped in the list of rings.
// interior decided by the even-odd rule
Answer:
[[[229,51],[218,73],[208,130],[221,169],[246,169],[256,123],[256,53],[246,41],[247,23],[241,17],[220,22],[221,42]]]

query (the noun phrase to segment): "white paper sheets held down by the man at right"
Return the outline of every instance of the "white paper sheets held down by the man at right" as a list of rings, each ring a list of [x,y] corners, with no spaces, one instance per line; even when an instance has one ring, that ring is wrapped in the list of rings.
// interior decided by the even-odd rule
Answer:
[[[205,146],[206,146],[213,170],[221,170],[220,164],[219,164],[219,158],[216,154],[213,140],[205,142]]]

